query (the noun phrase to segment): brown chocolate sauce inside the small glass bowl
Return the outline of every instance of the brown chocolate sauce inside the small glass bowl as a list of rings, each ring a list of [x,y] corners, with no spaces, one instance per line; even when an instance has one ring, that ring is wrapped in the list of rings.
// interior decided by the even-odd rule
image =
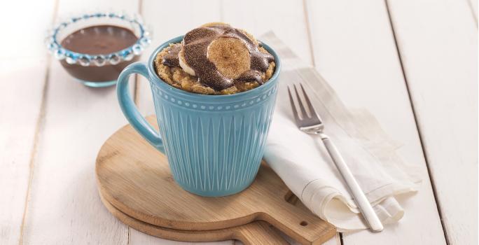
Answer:
[[[88,55],[107,55],[130,47],[138,37],[130,29],[113,25],[97,25],[86,27],[69,34],[61,45],[73,52]],[[116,80],[120,72],[130,63],[139,59],[135,55],[130,61],[104,66],[82,66],[81,64],[68,64],[64,59],[60,62],[71,76],[92,82],[106,82]]]

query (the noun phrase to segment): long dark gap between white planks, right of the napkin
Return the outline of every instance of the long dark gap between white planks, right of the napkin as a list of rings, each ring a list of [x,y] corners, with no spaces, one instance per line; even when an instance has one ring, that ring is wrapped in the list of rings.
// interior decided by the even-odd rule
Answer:
[[[396,31],[394,29],[394,22],[393,22],[392,17],[391,17],[391,9],[389,8],[389,0],[384,0],[384,3],[386,5],[387,16],[389,18],[389,25],[391,27],[391,33],[392,33],[393,38],[394,38],[394,45],[396,46],[396,52],[397,52],[397,55],[398,55],[399,64],[401,65],[401,71],[403,73],[403,79],[404,79],[406,91],[408,92],[408,99],[409,99],[409,103],[410,103],[411,110],[412,110],[412,116],[414,117],[416,130],[417,130],[418,137],[419,137],[419,142],[421,143],[422,155],[424,157],[424,162],[426,162],[427,174],[429,176],[429,181],[431,182],[431,188],[433,189],[433,197],[434,197],[434,200],[436,201],[436,208],[438,209],[438,215],[439,215],[439,218],[440,218],[440,225],[443,228],[443,234],[444,234],[444,237],[445,237],[446,244],[450,244],[450,240],[447,237],[447,231],[445,229],[445,223],[443,221],[443,216],[440,212],[440,210],[441,210],[440,209],[440,203],[439,203],[439,200],[436,196],[436,185],[434,184],[434,179],[433,179],[433,176],[431,175],[431,170],[429,168],[429,159],[428,159],[427,154],[426,154],[426,148],[424,147],[425,143],[422,139],[422,130],[421,130],[421,127],[419,126],[419,120],[417,119],[417,113],[416,113],[416,110],[415,110],[414,103],[412,102],[412,95],[411,95],[411,92],[410,92],[410,86],[409,86],[409,83],[408,83],[408,78],[407,78],[407,75],[406,75],[406,72],[405,72],[403,59],[402,59],[402,56],[401,56],[401,48],[399,48],[399,45],[398,45],[398,39],[396,38]]]

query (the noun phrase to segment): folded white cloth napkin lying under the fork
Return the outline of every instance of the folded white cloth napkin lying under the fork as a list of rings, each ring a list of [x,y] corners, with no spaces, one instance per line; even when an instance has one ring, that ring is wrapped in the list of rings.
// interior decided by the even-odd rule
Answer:
[[[296,127],[287,86],[302,83],[324,120],[325,133],[338,147],[382,223],[400,220],[404,210],[395,196],[417,191],[419,169],[401,159],[396,153],[398,145],[368,111],[347,109],[326,80],[275,34],[268,32],[261,40],[275,48],[283,62],[265,151],[270,167],[308,209],[340,232],[368,228],[321,139]]]

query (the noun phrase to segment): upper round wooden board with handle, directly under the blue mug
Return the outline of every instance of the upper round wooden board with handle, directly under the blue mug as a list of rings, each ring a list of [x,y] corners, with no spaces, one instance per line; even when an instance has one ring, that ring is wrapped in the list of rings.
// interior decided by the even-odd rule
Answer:
[[[156,125],[154,117],[148,117]],[[174,230],[219,230],[266,221],[302,244],[321,244],[333,225],[286,202],[289,189],[267,165],[247,190],[227,197],[200,197],[181,189],[165,155],[127,125],[102,146],[96,165],[104,199],[127,216]]]

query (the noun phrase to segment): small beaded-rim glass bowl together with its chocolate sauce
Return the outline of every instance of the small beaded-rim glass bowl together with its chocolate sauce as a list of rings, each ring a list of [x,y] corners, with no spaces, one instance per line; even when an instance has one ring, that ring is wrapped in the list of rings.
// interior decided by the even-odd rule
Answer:
[[[151,35],[139,16],[90,13],[60,22],[46,43],[80,83],[107,87],[115,85],[120,72],[139,59]]]

